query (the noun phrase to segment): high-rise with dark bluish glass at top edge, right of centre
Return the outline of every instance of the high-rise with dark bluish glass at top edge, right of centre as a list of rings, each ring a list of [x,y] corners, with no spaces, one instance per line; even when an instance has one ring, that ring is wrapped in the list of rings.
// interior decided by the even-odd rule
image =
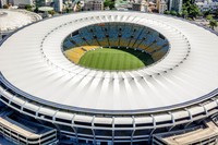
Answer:
[[[183,2],[183,0],[168,0],[168,10],[181,12],[182,11],[182,2]]]

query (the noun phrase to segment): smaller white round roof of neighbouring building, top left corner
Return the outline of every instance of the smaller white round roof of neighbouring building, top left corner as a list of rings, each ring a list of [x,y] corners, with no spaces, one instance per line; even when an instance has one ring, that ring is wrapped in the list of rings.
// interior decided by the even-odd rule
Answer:
[[[39,20],[40,15],[29,11],[0,9],[0,33],[15,31]]]

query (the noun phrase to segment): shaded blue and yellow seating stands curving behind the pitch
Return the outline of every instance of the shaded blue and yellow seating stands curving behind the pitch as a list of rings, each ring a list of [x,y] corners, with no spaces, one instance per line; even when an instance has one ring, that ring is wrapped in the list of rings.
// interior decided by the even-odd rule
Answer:
[[[150,53],[155,60],[168,51],[168,41],[160,34],[148,27],[106,23],[104,25],[90,25],[78,29],[78,33],[69,36],[63,43],[63,49],[68,50],[80,46],[101,47],[128,47],[142,49]]]

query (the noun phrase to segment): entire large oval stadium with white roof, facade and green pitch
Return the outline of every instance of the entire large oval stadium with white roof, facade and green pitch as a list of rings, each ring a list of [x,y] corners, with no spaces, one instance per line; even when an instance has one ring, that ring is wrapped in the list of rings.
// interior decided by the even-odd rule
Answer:
[[[0,44],[0,132],[29,145],[217,144],[217,46],[213,31],[138,12],[25,26]]]

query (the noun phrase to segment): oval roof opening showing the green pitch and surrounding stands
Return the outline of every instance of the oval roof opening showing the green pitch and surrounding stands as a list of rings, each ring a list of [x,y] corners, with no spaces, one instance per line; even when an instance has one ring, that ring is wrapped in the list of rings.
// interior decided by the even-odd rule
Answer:
[[[84,68],[126,71],[148,67],[169,51],[157,31],[132,23],[98,23],[72,32],[62,46],[64,56]]]

